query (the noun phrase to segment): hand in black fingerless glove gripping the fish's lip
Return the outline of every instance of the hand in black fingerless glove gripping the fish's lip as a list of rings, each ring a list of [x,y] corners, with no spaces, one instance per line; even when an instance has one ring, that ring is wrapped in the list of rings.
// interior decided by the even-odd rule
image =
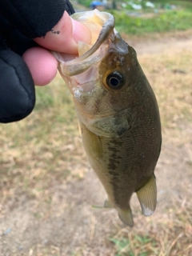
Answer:
[[[41,45],[61,52],[74,51],[75,54],[75,44],[83,35],[79,30],[79,35],[74,37],[76,40],[69,42],[65,49],[63,32],[58,30],[62,30],[61,21],[70,22],[72,27],[65,10],[68,14],[74,13],[69,0],[0,0],[0,122],[18,121],[34,109],[34,82],[40,81],[41,84],[41,76],[43,79],[47,74],[43,67],[41,72],[38,71],[39,60],[36,56],[39,55],[41,61],[54,58],[47,50],[34,46]],[[42,57],[42,53],[46,58]],[[54,69],[56,74],[56,60]]]

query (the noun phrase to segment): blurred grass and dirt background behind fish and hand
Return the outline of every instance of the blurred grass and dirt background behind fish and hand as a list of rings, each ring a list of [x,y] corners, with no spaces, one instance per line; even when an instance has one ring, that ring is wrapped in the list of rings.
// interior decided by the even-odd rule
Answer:
[[[162,153],[158,205],[134,227],[98,209],[105,191],[78,135],[62,78],[37,88],[35,110],[0,125],[0,254],[54,256],[192,255],[192,1],[72,1],[76,11],[114,14],[158,99]]]

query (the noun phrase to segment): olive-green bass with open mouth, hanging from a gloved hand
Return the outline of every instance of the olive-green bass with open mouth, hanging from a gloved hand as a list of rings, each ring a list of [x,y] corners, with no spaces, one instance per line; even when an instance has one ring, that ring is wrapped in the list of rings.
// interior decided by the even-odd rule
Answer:
[[[72,17],[90,29],[92,42],[78,42],[78,56],[70,61],[56,53],[58,70],[73,95],[86,156],[106,190],[104,207],[115,208],[123,223],[134,226],[132,195],[145,216],[157,203],[158,102],[112,14],[91,10]]]

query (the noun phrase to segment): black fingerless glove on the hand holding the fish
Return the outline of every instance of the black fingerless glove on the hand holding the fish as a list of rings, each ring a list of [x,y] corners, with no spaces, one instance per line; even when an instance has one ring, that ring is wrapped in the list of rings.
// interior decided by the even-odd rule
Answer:
[[[21,55],[65,10],[74,13],[69,0],[0,0],[0,122],[18,121],[34,109],[34,81]]]

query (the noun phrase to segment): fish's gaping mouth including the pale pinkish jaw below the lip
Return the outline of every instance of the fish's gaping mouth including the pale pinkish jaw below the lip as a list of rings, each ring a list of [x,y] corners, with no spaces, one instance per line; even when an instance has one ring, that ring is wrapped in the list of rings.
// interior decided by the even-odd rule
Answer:
[[[78,42],[78,57],[68,60],[66,54],[53,52],[58,59],[58,70],[66,81],[72,94],[90,92],[98,82],[98,65],[109,51],[127,52],[126,43],[114,28],[114,16],[98,10],[85,11],[71,15],[87,26],[92,34],[91,45]],[[97,23],[97,30],[92,26]],[[71,77],[71,79],[69,79]],[[75,86],[74,86],[75,85]]]

